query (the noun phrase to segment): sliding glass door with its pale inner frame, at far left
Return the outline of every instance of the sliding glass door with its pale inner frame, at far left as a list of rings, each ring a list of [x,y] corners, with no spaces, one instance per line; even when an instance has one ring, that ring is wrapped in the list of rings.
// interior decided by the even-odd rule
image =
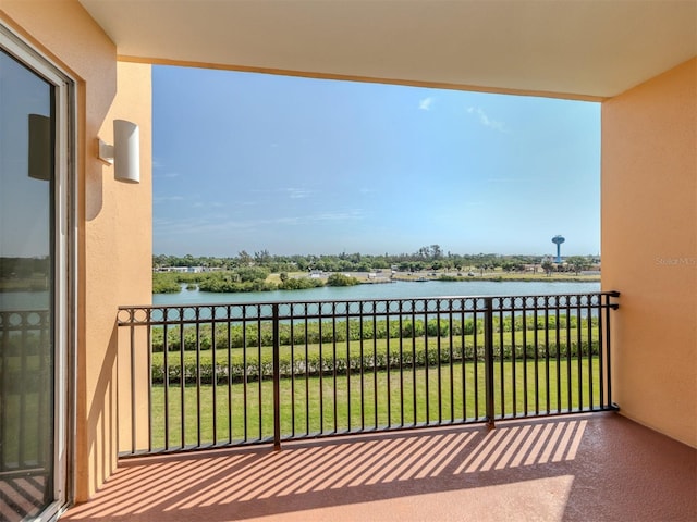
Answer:
[[[0,36],[0,520],[20,521],[65,497],[68,99]]]

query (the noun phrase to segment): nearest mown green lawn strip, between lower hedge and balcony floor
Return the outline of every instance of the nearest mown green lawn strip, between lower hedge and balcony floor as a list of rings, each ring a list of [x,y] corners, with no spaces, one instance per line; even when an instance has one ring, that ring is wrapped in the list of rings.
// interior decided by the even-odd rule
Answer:
[[[494,413],[510,415],[514,411],[518,413],[542,412],[548,409],[557,411],[577,409],[579,405],[587,408],[590,405],[588,358],[583,358],[580,364],[576,358],[563,358],[560,362],[559,378],[557,360],[551,360],[549,365],[543,362],[535,364],[534,361],[527,363],[516,361],[515,364],[503,361],[502,364],[497,364]],[[503,387],[500,385],[501,368],[503,369]],[[570,368],[571,371],[568,371]],[[599,361],[596,357],[591,358],[590,368],[594,373],[592,399],[597,406],[600,387]],[[475,378],[475,369],[477,378]],[[302,436],[319,432],[374,430],[377,426],[398,427],[461,419],[481,419],[485,415],[484,371],[482,363],[457,362],[452,365],[431,366],[428,373],[425,368],[404,368],[403,372],[366,371],[363,374],[340,374],[335,378],[333,375],[321,376],[321,378],[319,376],[282,378],[280,382],[281,433],[284,437]],[[427,374],[428,378],[426,378]],[[525,375],[527,375],[527,388],[524,387]],[[568,394],[570,384],[571,395]],[[503,389],[503,397],[501,389]],[[478,395],[477,400],[475,390]],[[168,421],[171,447],[182,444],[182,414],[184,445],[212,444],[230,439],[255,440],[273,435],[273,389],[270,381],[249,382],[246,386],[236,383],[230,387],[186,385],[183,408],[181,391],[182,388],[179,385],[169,386]],[[200,403],[200,410],[198,403]],[[164,386],[154,386],[151,412],[155,448],[162,447],[164,444]],[[215,432],[213,412],[216,413]],[[216,440],[213,440],[213,433],[217,434]]]

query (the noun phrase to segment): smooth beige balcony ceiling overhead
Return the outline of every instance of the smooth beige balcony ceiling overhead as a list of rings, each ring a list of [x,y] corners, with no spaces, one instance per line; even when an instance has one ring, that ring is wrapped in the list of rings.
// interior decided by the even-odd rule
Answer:
[[[80,0],[124,59],[607,98],[697,55],[697,0]]]

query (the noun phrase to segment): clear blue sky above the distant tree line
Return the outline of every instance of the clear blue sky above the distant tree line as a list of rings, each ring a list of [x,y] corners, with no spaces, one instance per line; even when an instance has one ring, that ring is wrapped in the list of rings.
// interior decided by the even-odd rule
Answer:
[[[600,250],[600,104],[156,66],[154,252]]]

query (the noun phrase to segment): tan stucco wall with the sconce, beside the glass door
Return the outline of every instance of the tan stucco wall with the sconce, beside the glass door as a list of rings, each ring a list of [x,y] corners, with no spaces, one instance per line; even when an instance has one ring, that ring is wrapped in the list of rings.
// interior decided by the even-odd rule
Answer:
[[[151,299],[150,66],[117,64],[115,47],[75,0],[0,0],[0,21],[77,83],[77,426],[75,499],[115,468],[117,307]],[[96,157],[112,121],[140,126],[140,184]]]

